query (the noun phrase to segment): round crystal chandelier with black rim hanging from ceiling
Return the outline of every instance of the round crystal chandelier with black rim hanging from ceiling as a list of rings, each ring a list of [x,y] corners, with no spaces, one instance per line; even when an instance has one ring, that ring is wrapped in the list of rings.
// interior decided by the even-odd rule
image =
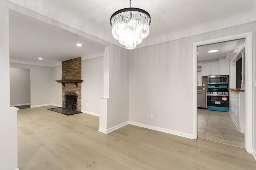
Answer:
[[[112,35],[125,45],[126,49],[134,49],[148,36],[150,15],[148,12],[131,7],[116,11],[110,18]]]

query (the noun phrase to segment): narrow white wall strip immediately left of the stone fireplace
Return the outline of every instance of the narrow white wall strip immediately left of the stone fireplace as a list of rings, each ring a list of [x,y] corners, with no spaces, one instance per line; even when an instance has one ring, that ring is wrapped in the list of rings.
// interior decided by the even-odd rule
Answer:
[[[52,104],[61,107],[62,106],[62,84],[56,82],[56,80],[61,80],[62,67],[54,66],[52,67]]]

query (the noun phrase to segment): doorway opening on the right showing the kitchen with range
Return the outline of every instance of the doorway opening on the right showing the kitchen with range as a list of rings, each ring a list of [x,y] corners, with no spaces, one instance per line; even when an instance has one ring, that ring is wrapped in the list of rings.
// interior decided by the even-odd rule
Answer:
[[[244,48],[244,43],[245,39],[238,39],[202,45],[197,48],[197,65],[198,68],[201,68],[198,69],[200,72],[198,82],[201,83],[198,83],[197,90],[200,96],[202,96],[201,94],[204,95],[202,96],[204,97],[203,100],[198,98],[200,105],[197,104],[198,138],[244,148],[244,90],[241,92],[230,90],[228,92],[228,88],[231,89],[231,86],[234,88],[241,87],[241,80],[239,87],[230,82],[231,80],[234,82],[233,79],[238,80],[237,75],[242,74],[242,63],[236,62],[240,63],[240,67],[238,67],[239,64],[236,64],[238,65],[236,66],[237,71],[240,71],[237,73],[233,68],[233,63],[237,60],[232,62],[230,60],[233,60],[234,57],[239,57],[242,60],[238,51]],[[231,55],[232,57],[230,57]],[[227,56],[229,57],[227,58]],[[213,77],[211,78],[212,81],[221,75],[217,79],[225,78],[226,81],[222,83],[226,84],[208,84],[209,72]],[[240,75],[239,77],[242,78]],[[212,92],[216,94],[212,94]],[[204,103],[201,104],[202,102]],[[237,107],[239,105],[243,106]]]

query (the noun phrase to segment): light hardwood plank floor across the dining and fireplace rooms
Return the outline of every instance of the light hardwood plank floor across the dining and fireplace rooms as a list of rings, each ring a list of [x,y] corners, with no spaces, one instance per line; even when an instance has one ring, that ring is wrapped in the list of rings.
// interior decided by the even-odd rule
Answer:
[[[53,106],[18,111],[20,170],[255,170],[245,149],[126,125],[98,132],[99,118]]]

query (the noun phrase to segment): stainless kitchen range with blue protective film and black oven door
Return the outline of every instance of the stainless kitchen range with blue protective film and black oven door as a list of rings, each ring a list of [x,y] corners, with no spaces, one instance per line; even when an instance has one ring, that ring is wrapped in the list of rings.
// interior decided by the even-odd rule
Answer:
[[[229,111],[228,84],[208,84],[207,109]]]

